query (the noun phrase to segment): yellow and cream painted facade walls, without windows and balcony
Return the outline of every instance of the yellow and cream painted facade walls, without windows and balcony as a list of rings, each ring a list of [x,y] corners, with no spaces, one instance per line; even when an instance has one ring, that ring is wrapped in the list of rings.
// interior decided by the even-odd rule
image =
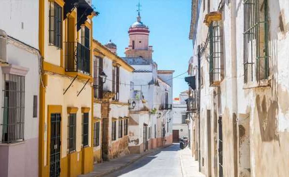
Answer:
[[[81,29],[77,31],[77,10],[70,13],[74,18],[74,25],[68,25],[68,18],[62,20],[62,47],[49,44],[49,10],[51,3],[57,3],[64,12],[63,0],[39,0],[39,51],[42,56],[42,81],[40,84],[39,104],[39,176],[50,176],[51,164],[51,116],[59,114],[60,119],[60,177],[77,177],[93,171],[93,87],[92,54],[90,49],[90,72],[74,72],[66,70],[66,49],[64,42],[80,43]],[[63,14],[65,15],[65,14]],[[90,30],[90,46],[92,45],[92,20],[94,15],[88,16],[83,26]],[[70,19],[70,22],[73,20]],[[74,29],[71,29],[74,26]],[[74,40],[68,39],[68,32],[74,31]],[[78,66],[76,66],[78,67]],[[74,80],[75,78],[75,80]],[[71,84],[72,83],[72,84]],[[64,93],[64,91],[66,92]],[[68,151],[68,117],[76,114],[75,151]],[[88,146],[83,147],[83,116],[88,113]]]

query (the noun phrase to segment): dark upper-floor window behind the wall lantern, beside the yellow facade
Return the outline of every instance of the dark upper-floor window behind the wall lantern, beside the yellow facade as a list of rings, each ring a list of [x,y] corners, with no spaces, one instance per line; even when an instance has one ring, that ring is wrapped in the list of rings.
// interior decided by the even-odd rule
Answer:
[[[97,99],[102,99],[103,96],[103,79],[99,77],[99,74],[103,71],[103,59],[98,56],[94,56],[93,61],[94,68],[94,97]]]

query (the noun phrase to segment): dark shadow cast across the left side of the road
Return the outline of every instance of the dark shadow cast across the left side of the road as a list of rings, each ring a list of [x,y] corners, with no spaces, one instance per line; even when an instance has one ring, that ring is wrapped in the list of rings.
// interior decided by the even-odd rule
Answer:
[[[144,156],[143,158],[137,160],[136,162],[134,162],[133,164],[125,167],[124,169],[122,170],[119,170],[119,171],[116,171],[112,174],[109,174],[105,177],[119,177],[119,176],[122,176],[122,175],[125,175],[129,172],[132,172],[134,170],[137,170],[137,169],[140,169],[142,167],[144,167],[145,165],[147,165],[148,163],[150,163],[152,160],[154,160],[155,158],[157,158],[157,155],[160,154],[160,153],[163,153],[163,152],[177,152],[177,151],[180,151],[181,149],[179,148],[179,144],[177,143],[174,143],[168,147],[164,147],[156,152],[153,152],[151,154],[148,154],[146,156]]]

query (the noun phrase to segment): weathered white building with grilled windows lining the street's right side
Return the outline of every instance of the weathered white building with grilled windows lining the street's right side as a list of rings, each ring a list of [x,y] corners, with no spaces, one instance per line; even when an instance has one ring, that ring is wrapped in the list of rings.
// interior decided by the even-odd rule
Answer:
[[[193,152],[208,177],[289,174],[288,6],[192,0],[190,67],[200,90]]]

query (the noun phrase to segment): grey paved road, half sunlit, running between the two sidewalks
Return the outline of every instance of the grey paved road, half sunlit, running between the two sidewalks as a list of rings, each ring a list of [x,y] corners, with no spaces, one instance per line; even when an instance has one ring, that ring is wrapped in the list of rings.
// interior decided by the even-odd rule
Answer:
[[[154,152],[106,177],[183,177],[179,144]]]

